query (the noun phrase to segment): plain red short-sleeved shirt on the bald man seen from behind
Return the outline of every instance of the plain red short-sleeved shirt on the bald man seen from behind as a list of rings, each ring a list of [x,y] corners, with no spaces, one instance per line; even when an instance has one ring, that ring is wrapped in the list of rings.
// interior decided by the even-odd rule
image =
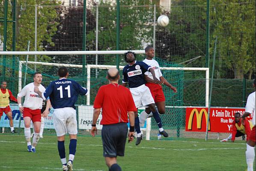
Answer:
[[[113,83],[99,88],[93,107],[102,108],[102,125],[128,123],[127,113],[137,111],[130,90]]]

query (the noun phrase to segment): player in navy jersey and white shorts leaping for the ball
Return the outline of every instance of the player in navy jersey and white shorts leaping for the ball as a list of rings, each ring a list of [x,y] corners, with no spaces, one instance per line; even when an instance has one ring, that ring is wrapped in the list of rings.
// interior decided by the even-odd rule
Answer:
[[[153,113],[153,117],[158,124],[159,132],[164,137],[168,137],[168,134],[164,131],[162,127],[162,121],[155,107],[155,102],[149,88],[145,85],[146,81],[144,79],[144,73],[146,71],[151,72],[153,80],[155,83],[159,83],[159,80],[155,77],[155,71],[149,65],[144,62],[137,62],[136,54],[134,52],[128,51],[125,53],[125,61],[128,62],[123,69],[123,80],[122,85],[129,85],[135,106],[137,108],[142,106],[148,106]],[[135,129],[137,132],[136,145],[140,144],[143,139],[143,135],[140,132],[140,121],[138,118],[138,112],[135,112]]]

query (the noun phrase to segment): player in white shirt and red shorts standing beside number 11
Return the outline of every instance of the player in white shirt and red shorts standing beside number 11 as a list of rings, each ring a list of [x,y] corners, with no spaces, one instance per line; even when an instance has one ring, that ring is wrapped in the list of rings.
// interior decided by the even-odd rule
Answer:
[[[40,132],[40,126],[41,126],[41,109],[42,109],[42,103],[43,99],[34,92],[34,87],[39,87],[40,91],[44,92],[45,87],[41,85],[42,82],[42,74],[39,72],[36,72],[34,74],[34,82],[26,85],[24,88],[22,88],[21,92],[17,95],[18,105],[20,112],[23,113],[23,119],[24,119],[24,134],[25,138],[27,140],[27,150],[28,152],[36,152],[36,145],[39,141],[39,132]],[[21,98],[25,96],[25,100],[23,103],[23,106],[21,105]],[[50,103],[50,100],[47,101],[47,103]],[[43,112],[43,116],[47,116],[48,111],[45,110]],[[31,146],[30,142],[30,122],[33,122],[33,126],[35,129],[35,133],[33,136],[33,143]]]

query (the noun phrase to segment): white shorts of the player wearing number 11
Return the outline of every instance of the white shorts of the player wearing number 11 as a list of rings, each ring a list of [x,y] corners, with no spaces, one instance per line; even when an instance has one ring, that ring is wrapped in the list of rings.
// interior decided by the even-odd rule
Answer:
[[[74,108],[54,109],[53,120],[57,136],[64,136],[66,133],[77,134],[77,117]]]

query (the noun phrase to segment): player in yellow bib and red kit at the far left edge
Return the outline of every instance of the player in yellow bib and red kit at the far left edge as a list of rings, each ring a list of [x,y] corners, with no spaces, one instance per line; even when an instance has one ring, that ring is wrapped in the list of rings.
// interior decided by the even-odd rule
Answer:
[[[6,81],[3,81],[1,84],[1,91],[0,91],[0,120],[3,116],[3,112],[9,118],[9,124],[11,128],[11,133],[16,133],[13,127],[13,120],[12,120],[12,110],[10,108],[10,100],[17,102],[17,99],[12,95],[12,91],[8,90]]]

